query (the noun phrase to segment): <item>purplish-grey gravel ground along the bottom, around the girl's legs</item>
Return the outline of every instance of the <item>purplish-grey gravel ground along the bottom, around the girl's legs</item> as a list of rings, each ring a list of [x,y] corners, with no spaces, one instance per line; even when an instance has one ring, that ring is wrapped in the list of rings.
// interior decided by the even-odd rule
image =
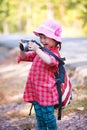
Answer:
[[[72,113],[57,121],[58,130],[87,130],[87,113]],[[25,118],[11,122],[9,117],[0,116],[0,130],[37,130],[35,120]]]

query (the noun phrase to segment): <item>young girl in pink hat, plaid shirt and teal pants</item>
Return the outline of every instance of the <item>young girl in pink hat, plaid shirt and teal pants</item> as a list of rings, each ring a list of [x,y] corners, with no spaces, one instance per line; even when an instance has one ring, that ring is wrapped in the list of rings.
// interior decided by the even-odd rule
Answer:
[[[61,26],[54,20],[44,21],[34,34],[39,36],[42,45],[58,57],[61,49]],[[54,72],[58,70],[58,61],[41,50],[36,43],[29,43],[29,50],[20,50],[20,61],[32,61],[27,77],[23,99],[34,105],[38,130],[57,130],[54,105],[58,104],[58,92]]]

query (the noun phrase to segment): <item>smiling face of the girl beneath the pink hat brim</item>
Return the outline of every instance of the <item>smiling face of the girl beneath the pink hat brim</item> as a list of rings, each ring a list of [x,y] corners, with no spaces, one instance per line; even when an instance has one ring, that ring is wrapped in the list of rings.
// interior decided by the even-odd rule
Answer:
[[[40,42],[44,45],[44,47],[51,48],[56,46],[56,41],[53,40],[52,38],[49,38],[43,34],[40,34],[39,37],[40,37]]]

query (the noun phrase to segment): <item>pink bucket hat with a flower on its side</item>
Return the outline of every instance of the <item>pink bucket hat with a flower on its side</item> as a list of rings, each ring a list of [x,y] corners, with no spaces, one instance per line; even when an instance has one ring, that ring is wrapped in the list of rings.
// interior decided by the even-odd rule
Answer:
[[[39,34],[44,34],[45,36],[52,38],[61,43],[61,26],[54,20],[44,21],[35,31],[33,31],[36,36]]]

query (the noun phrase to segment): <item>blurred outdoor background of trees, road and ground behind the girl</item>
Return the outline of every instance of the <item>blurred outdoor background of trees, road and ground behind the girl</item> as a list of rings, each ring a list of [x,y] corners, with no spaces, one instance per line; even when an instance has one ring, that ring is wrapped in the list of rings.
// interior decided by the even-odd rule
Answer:
[[[87,129],[87,0],[0,0],[0,130],[35,128],[34,110],[27,118],[30,104],[22,100],[31,63],[17,63],[18,41],[39,41],[32,32],[47,18],[62,26],[60,53],[73,85],[59,128]]]

